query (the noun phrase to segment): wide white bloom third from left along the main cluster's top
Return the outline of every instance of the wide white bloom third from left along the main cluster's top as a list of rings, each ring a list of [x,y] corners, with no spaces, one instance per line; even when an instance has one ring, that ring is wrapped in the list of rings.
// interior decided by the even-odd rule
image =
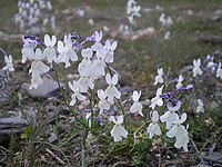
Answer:
[[[64,42],[64,43],[63,43]],[[71,36],[64,36],[64,40],[62,41],[58,41],[58,51],[59,51],[59,56],[56,59],[56,62],[64,62],[65,66],[64,68],[70,67],[70,62],[71,61],[77,61],[78,60],[78,56],[77,52],[73,50],[72,48],[72,40],[71,40]]]

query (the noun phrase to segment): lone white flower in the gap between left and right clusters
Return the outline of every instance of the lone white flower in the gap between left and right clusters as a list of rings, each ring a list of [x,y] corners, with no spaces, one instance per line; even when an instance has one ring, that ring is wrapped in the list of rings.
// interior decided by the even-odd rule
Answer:
[[[141,116],[143,116],[142,114],[142,104],[139,101],[141,96],[141,91],[133,91],[132,100],[134,101],[133,105],[130,107],[130,112],[139,112]]]

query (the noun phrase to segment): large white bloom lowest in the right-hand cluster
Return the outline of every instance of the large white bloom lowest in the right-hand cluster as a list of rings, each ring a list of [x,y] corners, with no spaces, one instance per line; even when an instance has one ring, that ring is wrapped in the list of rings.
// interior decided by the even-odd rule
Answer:
[[[174,120],[173,127],[167,132],[167,136],[169,138],[175,137],[175,144],[174,146],[176,148],[183,147],[184,151],[188,151],[188,143],[189,143],[189,136],[188,136],[188,130],[185,129],[183,124],[186,120],[186,114],[182,114],[181,119],[176,115],[176,118]]]

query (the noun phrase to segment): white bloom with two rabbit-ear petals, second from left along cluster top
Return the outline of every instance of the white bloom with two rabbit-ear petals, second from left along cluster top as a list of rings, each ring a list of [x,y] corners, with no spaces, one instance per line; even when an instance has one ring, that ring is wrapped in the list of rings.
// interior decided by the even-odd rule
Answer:
[[[50,38],[49,35],[44,35],[44,45],[47,48],[44,49],[43,55],[47,58],[49,63],[52,63],[52,61],[56,60],[57,58],[57,53],[53,48],[56,42],[57,42],[56,36],[52,36],[52,38]]]

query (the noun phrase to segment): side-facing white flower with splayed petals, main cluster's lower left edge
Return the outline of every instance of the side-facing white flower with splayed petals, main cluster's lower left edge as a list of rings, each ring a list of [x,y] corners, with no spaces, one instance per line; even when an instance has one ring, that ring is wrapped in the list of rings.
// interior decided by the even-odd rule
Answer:
[[[74,94],[72,94],[72,97],[71,97],[72,100],[70,102],[70,106],[73,106],[77,102],[77,99],[81,100],[81,101],[87,99],[85,96],[80,94],[77,81],[73,80],[72,84],[69,81],[68,85],[69,85],[70,89],[74,92]]]

